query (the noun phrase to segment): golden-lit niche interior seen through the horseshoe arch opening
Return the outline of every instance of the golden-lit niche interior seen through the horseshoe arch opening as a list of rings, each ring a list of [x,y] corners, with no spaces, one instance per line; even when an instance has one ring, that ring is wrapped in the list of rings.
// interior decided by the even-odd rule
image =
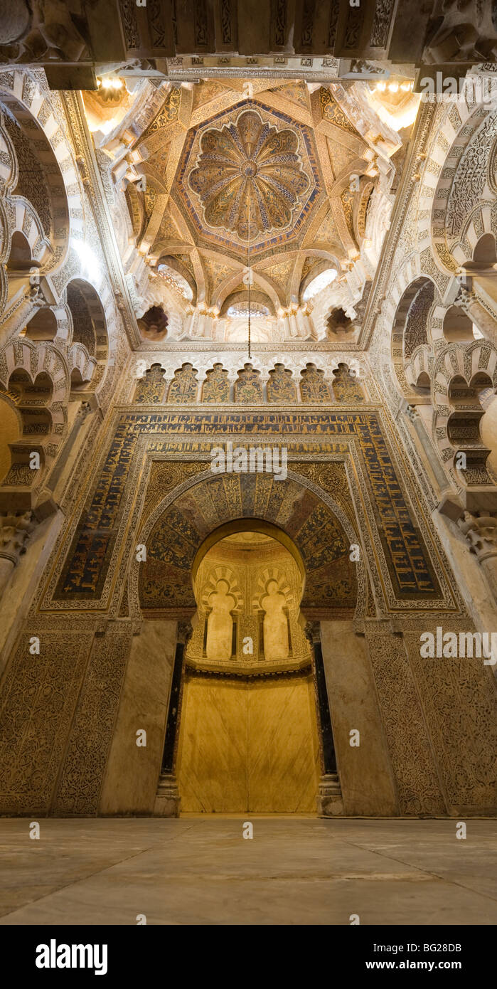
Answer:
[[[224,662],[212,655],[215,636],[208,640],[219,582],[232,595],[238,630],[236,652]],[[290,632],[289,655],[279,663],[261,642],[272,582],[285,599]],[[293,557],[265,533],[235,533],[208,550],[195,586],[198,621],[187,649],[177,761],[182,812],[314,813],[316,709],[310,647],[298,620],[302,577]],[[253,653],[243,650],[247,636]]]

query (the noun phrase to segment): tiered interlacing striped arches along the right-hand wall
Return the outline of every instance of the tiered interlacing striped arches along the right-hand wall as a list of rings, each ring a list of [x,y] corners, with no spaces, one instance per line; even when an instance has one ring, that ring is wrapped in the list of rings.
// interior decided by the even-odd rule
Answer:
[[[383,355],[380,368],[389,405],[399,409],[407,402],[423,413],[440,462],[460,491],[491,483],[485,467],[489,451],[483,449],[476,423],[484,411],[479,393],[485,392],[488,402],[487,390],[495,391],[497,385],[497,303],[488,292],[481,298],[476,278],[472,292],[467,288],[471,290],[473,274],[490,275],[495,261],[497,115],[488,104],[471,102],[470,96],[440,103],[432,135],[416,161],[405,228],[392,257],[397,274],[376,319],[376,346]],[[408,346],[406,352],[409,306],[422,299],[423,285],[425,317],[419,321],[417,341],[416,335],[411,341],[417,346],[411,352]],[[460,405],[462,386],[469,426],[454,403],[457,393]],[[428,404],[431,423],[429,410],[421,407]],[[457,451],[467,456],[468,444],[473,446],[471,463],[461,473],[455,456]]]

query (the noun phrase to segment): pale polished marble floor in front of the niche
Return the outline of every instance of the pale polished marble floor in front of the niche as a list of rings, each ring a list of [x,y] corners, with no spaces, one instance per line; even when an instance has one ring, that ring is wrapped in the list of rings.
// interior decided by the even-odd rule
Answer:
[[[244,820],[253,839],[243,838]],[[497,825],[0,819],[0,925],[497,923]]]

